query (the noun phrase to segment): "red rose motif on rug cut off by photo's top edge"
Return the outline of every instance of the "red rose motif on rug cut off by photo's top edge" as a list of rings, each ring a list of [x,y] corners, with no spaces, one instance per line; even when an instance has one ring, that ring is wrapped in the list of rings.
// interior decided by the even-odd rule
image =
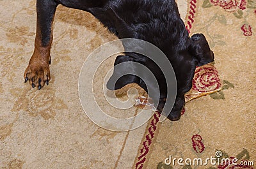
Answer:
[[[246,0],[211,0],[211,3],[230,12],[246,9]]]

